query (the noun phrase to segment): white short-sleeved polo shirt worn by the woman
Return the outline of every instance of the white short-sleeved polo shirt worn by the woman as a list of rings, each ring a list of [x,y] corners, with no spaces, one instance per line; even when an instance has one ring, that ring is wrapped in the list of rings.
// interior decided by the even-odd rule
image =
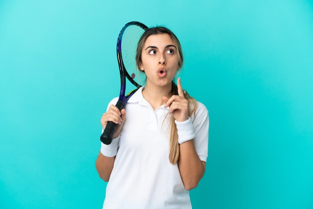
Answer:
[[[123,128],[119,139],[113,139],[113,142],[119,140],[118,149],[103,209],[191,208],[189,192],[183,186],[177,163],[171,164],[168,159],[168,107],[162,105],[153,110],[143,98],[142,88],[125,105]],[[109,105],[116,104],[117,100],[112,99]],[[191,120],[196,133],[193,139],[196,152],[206,161],[209,122],[208,111],[202,103],[198,102]]]

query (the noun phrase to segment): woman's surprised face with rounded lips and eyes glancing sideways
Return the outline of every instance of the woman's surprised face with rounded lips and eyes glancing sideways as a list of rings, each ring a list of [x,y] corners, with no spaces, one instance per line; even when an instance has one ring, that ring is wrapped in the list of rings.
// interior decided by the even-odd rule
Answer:
[[[178,65],[177,46],[167,33],[147,37],[141,52],[140,70],[146,74],[146,85],[171,85]]]

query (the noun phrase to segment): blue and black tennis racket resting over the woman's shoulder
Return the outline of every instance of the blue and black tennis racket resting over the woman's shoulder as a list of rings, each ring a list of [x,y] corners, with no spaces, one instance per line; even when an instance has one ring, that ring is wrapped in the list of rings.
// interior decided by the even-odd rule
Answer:
[[[119,110],[122,110],[125,107],[130,96],[132,96],[132,94],[144,84],[145,74],[137,69],[135,55],[138,40],[147,28],[147,26],[140,22],[131,21],[126,23],[119,32],[117,38],[117,60],[120,73],[120,92],[118,101],[115,104]],[[136,87],[127,95],[125,95],[126,77],[130,83]],[[118,124],[112,121],[107,122],[100,136],[100,140],[104,144],[110,144],[112,142],[117,125]]]

